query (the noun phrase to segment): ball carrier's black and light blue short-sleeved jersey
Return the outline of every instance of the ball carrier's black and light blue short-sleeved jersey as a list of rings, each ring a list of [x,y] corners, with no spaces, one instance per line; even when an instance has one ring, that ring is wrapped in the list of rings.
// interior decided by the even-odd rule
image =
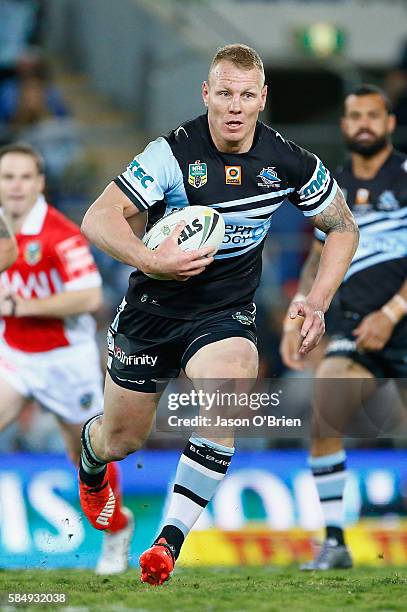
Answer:
[[[316,215],[337,189],[315,155],[260,122],[249,152],[221,153],[207,115],[150,143],[115,183],[140,211],[148,211],[147,230],[185,206],[210,206],[224,218],[223,243],[202,274],[186,282],[152,280],[140,270],[130,276],[130,304],[181,319],[251,302],[275,211],[289,200],[304,215]]]

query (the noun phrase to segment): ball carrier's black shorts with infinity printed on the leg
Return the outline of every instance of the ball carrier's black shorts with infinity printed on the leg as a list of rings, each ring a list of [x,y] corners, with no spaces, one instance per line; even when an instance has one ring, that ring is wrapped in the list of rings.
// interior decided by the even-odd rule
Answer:
[[[120,387],[155,393],[206,344],[233,337],[257,344],[255,314],[249,304],[186,321],[143,312],[124,300],[108,331],[107,370]]]

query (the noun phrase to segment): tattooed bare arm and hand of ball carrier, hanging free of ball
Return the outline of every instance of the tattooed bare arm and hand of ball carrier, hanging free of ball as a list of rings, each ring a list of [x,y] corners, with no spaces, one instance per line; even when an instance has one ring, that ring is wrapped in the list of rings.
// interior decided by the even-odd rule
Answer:
[[[359,242],[358,226],[340,189],[329,206],[311,220],[315,227],[327,234],[327,238],[306,299],[290,306],[290,319],[304,317],[300,355],[309,353],[323,336],[324,313],[349,268]]]

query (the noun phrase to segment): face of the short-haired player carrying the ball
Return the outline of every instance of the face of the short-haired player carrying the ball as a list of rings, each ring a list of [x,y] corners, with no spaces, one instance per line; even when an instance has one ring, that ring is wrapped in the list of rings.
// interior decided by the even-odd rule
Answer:
[[[211,136],[225,153],[245,153],[253,142],[259,112],[264,110],[267,86],[257,68],[242,70],[219,62],[202,86]]]

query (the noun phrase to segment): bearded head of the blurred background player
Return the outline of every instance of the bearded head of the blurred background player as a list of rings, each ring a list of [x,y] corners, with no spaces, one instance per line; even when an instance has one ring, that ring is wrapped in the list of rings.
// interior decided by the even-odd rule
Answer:
[[[369,158],[390,143],[395,118],[389,115],[379,94],[350,95],[345,101],[341,127],[348,149]]]

